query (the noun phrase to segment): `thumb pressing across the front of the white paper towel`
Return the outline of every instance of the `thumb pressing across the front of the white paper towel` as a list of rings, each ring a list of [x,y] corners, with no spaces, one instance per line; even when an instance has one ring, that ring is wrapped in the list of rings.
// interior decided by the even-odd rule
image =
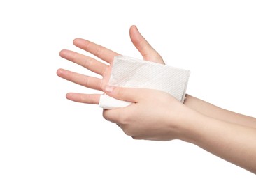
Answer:
[[[104,93],[117,99],[129,102],[138,102],[142,96],[141,88],[122,88],[115,86],[105,86]],[[145,96],[145,94],[144,94]]]

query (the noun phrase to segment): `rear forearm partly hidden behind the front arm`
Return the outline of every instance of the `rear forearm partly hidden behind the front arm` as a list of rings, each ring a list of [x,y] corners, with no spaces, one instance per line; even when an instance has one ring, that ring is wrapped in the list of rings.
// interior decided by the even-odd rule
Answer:
[[[192,97],[191,95],[186,95],[184,104],[187,107],[190,107],[191,109],[204,114],[205,116],[218,120],[224,120],[229,123],[236,123],[238,125],[256,128],[256,118],[216,107],[213,104],[205,102],[204,100],[199,100],[198,98]]]

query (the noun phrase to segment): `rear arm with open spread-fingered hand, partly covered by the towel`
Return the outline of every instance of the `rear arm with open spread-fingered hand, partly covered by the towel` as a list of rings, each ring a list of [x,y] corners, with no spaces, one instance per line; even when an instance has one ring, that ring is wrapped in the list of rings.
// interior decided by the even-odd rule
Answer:
[[[155,49],[150,46],[145,38],[141,36],[141,33],[138,32],[136,26],[131,26],[129,33],[131,37],[131,42],[133,42],[134,46],[136,47],[136,49],[138,49],[138,51],[141,53],[145,60],[164,64],[162,57],[155,51]],[[102,60],[106,61],[107,64],[101,63],[94,58],[90,58],[83,54],[72,52],[70,50],[62,50],[60,52],[60,56],[62,56],[62,58],[66,58],[69,61],[72,61],[73,63],[82,65],[84,68],[87,68],[92,72],[100,74],[102,76],[102,79],[98,79],[96,77],[88,77],[83,74],[78,74],[76,72],[71,72],[63,69],[59,69],[57,71],[57,74],[59,75],[59,77],[62,77],[69,81],[73,81],[76,84],[102,91],[103,87],[108,84],[108,79],[111,73],[111,66],[109,65],[112,64],[113,57],[118,55],[118,53],[115,53],[110,49],[106,49],[101,45],[97,45],[93,42],[80,38],[74,40],[73,43],[77,47],[80,47],[81,49],[84,49],[85,51],[90,52],[95,56],[98,56]],[[99,103],[99,94],[87,95],[81,93],[68,93],[66,97],[69,100],[73,100],[76,102],[83,102],[87,104]],[[239,113],[234,113],[232,111],[221,109],[220,107],[216,107],[213,104],[210,104],[203,100],[199,100],[198,98],[192,97],[191,95],[187,95],[185,105],[211,118],[225,120],[229,123],[236,123],[248,127],[256,127],[255,118],[243,116]]]

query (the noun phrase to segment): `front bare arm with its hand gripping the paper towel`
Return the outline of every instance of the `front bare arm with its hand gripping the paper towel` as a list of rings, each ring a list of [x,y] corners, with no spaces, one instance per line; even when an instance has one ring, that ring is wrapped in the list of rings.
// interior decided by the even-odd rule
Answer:
[[[104,118],[120,125],[134,139],[180,139],[256,173],[255,128],[204,116],[161,91],[112,87],[105,92],[136,102],[104,111]]]

